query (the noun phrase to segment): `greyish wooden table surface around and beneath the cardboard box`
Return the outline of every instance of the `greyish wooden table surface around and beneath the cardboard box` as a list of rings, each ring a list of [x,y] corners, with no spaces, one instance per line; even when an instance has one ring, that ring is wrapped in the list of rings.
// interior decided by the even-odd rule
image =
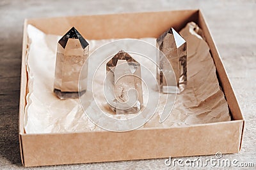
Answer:
[[[246,120],[240,153],[223,159],[256,167],[256,1],[0,1],[0,169],[24,169],[18,114],[24,18],[138,11],[203,11]],[[191,143],[193,145],[193,143]],[[213,156],[200,157],[202,160]],[[197,159],[198,157],[189,157]],[[182,158],[188,159],[188,158]],[[164,159],[48,166],[42,169],[167,169]],[[33,168],[29,168],[33,169]],[[38,168],[35,168],[38,169]]]

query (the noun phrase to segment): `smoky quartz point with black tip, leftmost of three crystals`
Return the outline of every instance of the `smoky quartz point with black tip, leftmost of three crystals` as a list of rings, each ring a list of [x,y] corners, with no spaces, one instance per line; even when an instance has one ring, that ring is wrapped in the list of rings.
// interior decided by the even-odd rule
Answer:
[[[81,73],[83,84],[78,89],[79,73],[89,54],[89,44],[81,34],[72,27],[58,41],[54,93],[60,99],[76,98],[84,94],[87,84],[86,73]],[[86,63],[87,64],[87,63]]]

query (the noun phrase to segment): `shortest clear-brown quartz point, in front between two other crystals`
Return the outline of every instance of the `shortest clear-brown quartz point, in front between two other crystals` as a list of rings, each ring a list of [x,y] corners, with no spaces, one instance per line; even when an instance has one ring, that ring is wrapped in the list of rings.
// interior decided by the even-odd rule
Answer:
[[[138,113],[143,107],[140,63],[124,51],[106,64],[104,92],[117,115]]]

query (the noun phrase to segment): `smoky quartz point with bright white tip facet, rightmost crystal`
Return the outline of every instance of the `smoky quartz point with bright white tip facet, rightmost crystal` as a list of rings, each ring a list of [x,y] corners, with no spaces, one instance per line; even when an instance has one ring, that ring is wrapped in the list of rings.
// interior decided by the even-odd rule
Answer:
[[[157,48],[160,51],[157,52],[159,87],[163,93],[179,94],[185,89],[187,83],[186,41],[171,28],[157,38]]]

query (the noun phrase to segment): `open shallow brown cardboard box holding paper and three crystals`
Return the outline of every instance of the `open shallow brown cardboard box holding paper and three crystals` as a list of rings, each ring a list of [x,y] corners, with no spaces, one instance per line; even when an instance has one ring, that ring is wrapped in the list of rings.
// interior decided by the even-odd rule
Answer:
[[[28,52],[26,32],[28,24],[34,25],[45,33],[60,35],[75,26],[88,39],[108,39],[157,37],[170,27],[179,31],[189,21],[196,22],[204,31],[232,121],[189,127],[141,129],[131,132],[65,134],[26,134],[24,132],[24,108],[28,83],[25,62]],[[24,22],[19,140],[22,164],[26,167],[213,155],[216,152],[237,153],[241,148],[243,128],[243,115],[200,10],[40,18],[28,19]]]

